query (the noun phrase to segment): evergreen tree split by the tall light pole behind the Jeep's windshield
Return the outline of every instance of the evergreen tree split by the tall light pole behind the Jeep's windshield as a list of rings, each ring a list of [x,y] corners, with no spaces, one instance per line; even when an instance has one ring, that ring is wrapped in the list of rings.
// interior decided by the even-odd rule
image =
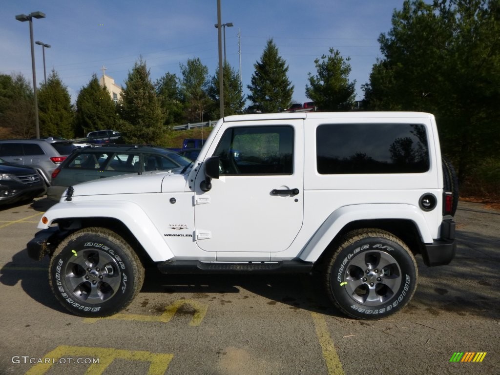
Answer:
[[[212,99],[213,105],[210,111],[210,118],[220,117],[219,79],[218,67],[215,74],[210,78],[208,86],[208,96]],[[222,67],[222,79],[224,85],[224,116],[242,113],[245,103],[243,88],[236,71],[227,62]]]

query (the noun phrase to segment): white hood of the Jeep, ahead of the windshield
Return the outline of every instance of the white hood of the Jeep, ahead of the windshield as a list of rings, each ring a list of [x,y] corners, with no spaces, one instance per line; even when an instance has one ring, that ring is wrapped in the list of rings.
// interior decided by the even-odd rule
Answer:
[[[122,174],[73,185],[72,196],[184,191],[185,184],[184,174],[170,171]]]

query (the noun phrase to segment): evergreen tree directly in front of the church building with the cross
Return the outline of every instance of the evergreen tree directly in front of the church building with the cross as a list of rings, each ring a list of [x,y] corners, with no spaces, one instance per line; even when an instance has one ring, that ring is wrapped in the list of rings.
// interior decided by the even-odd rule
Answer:
[[[116,121],[116,109],[109,91],[99,84],[97,74],[93,73],[76,98],[75,133],[85,136],[93,130],[114,129]]]

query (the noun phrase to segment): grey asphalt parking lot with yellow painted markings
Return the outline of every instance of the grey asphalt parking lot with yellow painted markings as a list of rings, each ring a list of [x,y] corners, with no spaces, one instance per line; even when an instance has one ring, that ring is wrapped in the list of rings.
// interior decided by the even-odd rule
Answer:
[[[451,264],[402,311],[337,313],[309,276],[161,275],[102,319],[68,314],[48,259],[27,257],[46,198],[0,208],[0,374],[493,374],[500,368],[500,211],[460,202]],[[482,361],[450,361],[456,352]],[[467,354],[464,354],[464,356]]]

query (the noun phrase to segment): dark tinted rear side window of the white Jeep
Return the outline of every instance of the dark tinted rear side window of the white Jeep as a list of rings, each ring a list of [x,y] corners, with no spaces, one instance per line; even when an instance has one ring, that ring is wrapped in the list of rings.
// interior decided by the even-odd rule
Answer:
[[[320,174],[422,173],[429,169],[425,126],[323,124],[316,129]]]

